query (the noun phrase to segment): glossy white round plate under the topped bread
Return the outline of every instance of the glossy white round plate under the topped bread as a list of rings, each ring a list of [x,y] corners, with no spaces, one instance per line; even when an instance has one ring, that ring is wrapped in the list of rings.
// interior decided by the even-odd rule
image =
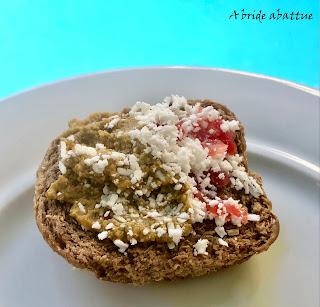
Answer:
[[[247,128],[281,232],[225,272],[145,287],[102,282],[51,251],[32,211],[37,165],[68,119],[177,93],[228,105]],[[0,102],[0,306],[318,306],[319,94],[264,76],[146,68],[57,82]]]

